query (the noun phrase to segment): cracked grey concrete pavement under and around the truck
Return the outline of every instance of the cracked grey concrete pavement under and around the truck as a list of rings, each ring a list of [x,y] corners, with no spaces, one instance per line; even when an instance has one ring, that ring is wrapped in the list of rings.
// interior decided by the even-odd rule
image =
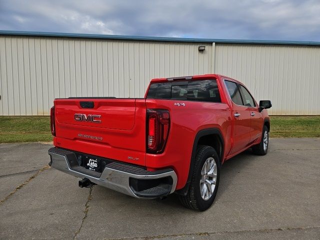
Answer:
[[[320,139],[272,138],[221,168],[204,212],[141,200],[44,167],[50,144],[0,144],[0,239],[319,239]],[[43,168],[44,167],[44,168]]]

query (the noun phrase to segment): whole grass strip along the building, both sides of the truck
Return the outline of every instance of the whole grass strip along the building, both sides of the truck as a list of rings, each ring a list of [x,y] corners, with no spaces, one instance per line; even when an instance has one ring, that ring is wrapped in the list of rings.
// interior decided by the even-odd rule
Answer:
[[[270,137],[320,137],[320,116],[270,116]],[[0,143],[52,141],[49,116],[0,116]]]

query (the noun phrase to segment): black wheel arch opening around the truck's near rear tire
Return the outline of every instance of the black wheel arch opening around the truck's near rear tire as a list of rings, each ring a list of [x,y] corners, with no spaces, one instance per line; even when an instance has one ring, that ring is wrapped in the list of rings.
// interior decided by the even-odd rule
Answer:
[[[218,128],[206,128],[206,129],[199,130],[196,133],[193,141],[188,178],[186,180],[184,187],[176,191],[177,194],[186,195],[188,192],[191,177],[192,177],[192,171],[194,167],[194,158],[195,158],[196,148],[199,144],[212,146],[218,153],[218,156],[220,158],[219,163],[221,164],[222,162],[222,158],[224,154],[224,140],[220,130]]]

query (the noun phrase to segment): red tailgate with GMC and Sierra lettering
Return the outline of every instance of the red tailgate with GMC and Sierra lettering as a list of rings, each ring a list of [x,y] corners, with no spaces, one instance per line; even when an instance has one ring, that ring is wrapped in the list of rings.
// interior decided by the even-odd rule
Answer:
[[[56,146],[145,165],[145,100],[55,99]]]

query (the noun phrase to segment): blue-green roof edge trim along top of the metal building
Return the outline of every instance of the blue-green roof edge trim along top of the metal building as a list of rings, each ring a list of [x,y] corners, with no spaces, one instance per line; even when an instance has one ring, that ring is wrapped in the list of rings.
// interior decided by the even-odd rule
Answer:
[[[248,40],[248,39],[185,38],[185,37],[105,35],[105,34],[42,32],[42,31],[11,31],[11,30],[0,30],[0,35],[79,37],[79,38],[96,38],[96,39],[145,40],[145,41],[173,41],[173,42],[217,42],[217,43],[245,43],[245,44],[320,45],[320,41],[285,41],[285,40]]]

